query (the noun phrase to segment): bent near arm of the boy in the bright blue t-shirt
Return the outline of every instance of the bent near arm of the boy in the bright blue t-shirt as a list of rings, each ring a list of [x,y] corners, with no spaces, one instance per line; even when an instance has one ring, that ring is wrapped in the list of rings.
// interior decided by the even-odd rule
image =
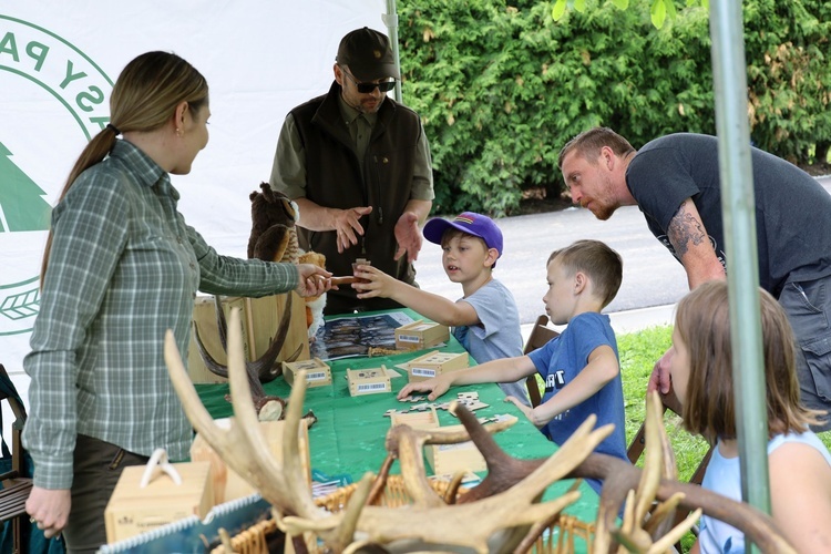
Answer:
[[[577,377],[536,408],[529,408],[513,397],[507,397],[506,400],[522,410],[534,425],[542,428],[564,411],[591,398],[607,382],[617,377],[619,371],[617,356],[615,356],[612,347],[608,345],[598,346],[588,355],[588,363]]]

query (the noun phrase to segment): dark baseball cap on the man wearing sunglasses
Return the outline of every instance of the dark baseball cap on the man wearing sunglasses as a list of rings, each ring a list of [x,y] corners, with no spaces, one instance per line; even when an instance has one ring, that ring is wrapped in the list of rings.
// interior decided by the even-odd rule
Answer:
[[[396,70],[396,57],[389,39],[368,27],[356,29],[340,40],[335,61],[348,65],[352,75],[361,82],[390,76],[401,79]]]

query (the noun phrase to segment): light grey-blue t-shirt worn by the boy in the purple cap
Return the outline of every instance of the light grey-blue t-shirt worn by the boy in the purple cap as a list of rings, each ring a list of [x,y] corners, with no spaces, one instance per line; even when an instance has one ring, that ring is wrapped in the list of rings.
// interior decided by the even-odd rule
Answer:
[[[453,336],[476,363],[500,358],[522,356],[520,311],[511,291],[502,283],[491,279],[466,298],[473,306],[481,325],[453,328]]]

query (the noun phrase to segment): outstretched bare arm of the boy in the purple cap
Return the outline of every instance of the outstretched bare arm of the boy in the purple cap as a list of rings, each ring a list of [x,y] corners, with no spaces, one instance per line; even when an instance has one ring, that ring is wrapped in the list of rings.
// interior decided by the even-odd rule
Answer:
[[[358,291],[358,298],[391,298],[437,324],[448,327],[471,326],[480,322],[476,310],[470,304],[454,302],[443,296],[413,287],[387,275],[377,267],[357,266],[355,276],[369,280],[369,283],[352,284],[352,288]]]

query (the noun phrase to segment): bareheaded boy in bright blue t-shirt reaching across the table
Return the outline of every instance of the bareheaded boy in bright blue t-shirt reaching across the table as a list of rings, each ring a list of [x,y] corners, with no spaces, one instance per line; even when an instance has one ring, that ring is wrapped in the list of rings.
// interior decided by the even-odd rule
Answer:
[[[601,314],[623,280],[620,256],[597,240],[577,240],[555,250],[547,263],[545,311],[554,325],[568,324],[544,347],[527,356],[494,360],[470,370],[451,371],[404,386],[399,399],[430,392],[429,400],[453,384],[524,379],[538,372],[545,381],[543,400],[530,408],[509,398],[540,430],[562,444],[586,418],[597,416],[597,427],[614,423],[614,432],[595,452],[627,460],[624,398],[617,340],[608,316]],[[588,480],[599,492],[599,482]]]

